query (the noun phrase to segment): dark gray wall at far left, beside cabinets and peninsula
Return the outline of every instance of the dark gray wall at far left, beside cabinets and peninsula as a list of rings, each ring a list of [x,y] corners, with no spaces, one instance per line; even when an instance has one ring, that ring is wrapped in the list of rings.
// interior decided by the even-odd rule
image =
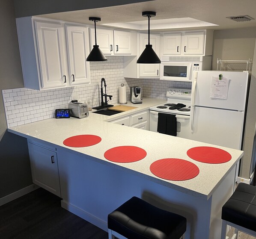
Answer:
[[[14,5],[0,2],[0,90],[24,87]],[[6,131],[0,91],[0,198],[32,184],[27,140]]]

